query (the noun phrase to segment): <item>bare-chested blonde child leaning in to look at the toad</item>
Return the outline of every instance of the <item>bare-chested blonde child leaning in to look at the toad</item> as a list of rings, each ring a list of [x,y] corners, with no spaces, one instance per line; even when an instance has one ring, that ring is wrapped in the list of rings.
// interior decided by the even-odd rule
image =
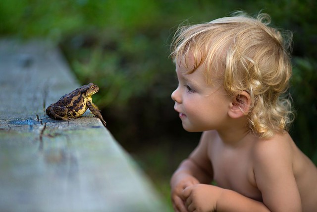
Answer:
[[[317,168],[287,133],[291,38],[269,22],[239,12],[174,37],[174,109],[203,132],[171,178],[177,212],[317,211]]]

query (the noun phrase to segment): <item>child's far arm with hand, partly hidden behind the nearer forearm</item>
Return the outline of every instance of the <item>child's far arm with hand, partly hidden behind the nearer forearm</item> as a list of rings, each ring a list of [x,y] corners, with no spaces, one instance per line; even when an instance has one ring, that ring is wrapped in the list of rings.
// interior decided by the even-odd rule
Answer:
[[[171,198],[175,211],[187,212],[182,196],[185,188],[198,183],[210,183],[212,180],[212,166],[207,154],[210,134],[203,133],[199,145],[179,165],[171,178]]]

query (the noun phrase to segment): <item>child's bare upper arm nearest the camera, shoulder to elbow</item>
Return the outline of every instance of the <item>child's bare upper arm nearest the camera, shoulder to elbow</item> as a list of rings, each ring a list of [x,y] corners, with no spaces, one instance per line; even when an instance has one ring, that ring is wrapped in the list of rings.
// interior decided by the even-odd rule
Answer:
[[[271,211],[301,212],[301,197],[293,170],[297,148],[288,134],[262,141],[254,150],[254,174],[264,204]]]

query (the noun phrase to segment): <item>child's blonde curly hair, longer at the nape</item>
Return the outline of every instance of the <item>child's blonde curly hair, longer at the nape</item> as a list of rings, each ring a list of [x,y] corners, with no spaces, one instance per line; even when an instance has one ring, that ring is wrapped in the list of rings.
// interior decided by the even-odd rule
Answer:
[[[188,53],[194,56],[189,73],[203,65],[206,80],[212,83],[211,72],[221,71],[229,95],[250,94],[250,130],[264,139],[287,131],[293,120],[291,102],[285,95],[292,74],[292,33],[282,34],[269,24],[268,14],[253,18],[239,11],[209,23],[181,26],[171,44],[173,60],[186,60]]]

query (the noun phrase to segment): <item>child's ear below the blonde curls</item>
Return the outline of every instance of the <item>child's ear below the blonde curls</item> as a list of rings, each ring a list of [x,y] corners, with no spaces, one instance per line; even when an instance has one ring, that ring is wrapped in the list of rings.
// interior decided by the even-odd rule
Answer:
[[[235,97],[233,97],[228,115],[233,119],[246,116],[249,113],[250,105],[251,97],[249,93],[246,91],[242,91]]]

